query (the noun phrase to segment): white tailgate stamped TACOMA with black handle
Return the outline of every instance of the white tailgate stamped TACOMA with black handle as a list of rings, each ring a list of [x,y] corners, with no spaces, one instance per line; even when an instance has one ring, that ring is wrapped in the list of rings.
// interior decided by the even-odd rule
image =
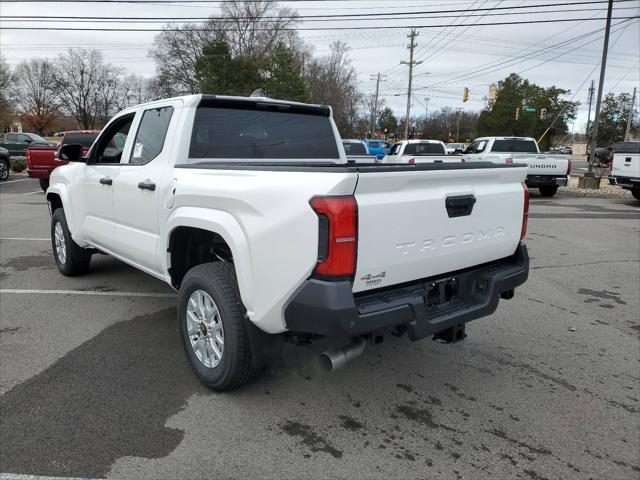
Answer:
[[[524,167],[428,167],[360,170],[354,292],[446,274],[516,250]],[[469,214],[451,208],[472,199]]]

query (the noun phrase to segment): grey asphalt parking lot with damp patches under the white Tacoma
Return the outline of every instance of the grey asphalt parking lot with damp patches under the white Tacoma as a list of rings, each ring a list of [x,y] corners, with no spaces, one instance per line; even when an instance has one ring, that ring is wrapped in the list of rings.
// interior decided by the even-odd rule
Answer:
[[[464,342],[388,337],[329,374],[332,344],[289,346],[224,394],[166,285],[105,256],[63,277],[48,238],[37,183],[1,184],[6,478],[640,478],[634,200],[533,193],[529,281]]]

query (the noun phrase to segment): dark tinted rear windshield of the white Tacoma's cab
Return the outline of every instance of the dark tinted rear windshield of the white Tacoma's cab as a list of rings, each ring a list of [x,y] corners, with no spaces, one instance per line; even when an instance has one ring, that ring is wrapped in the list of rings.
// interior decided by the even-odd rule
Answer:
[[[339,159],[329,117],[307,112],[200,106],[188,163],[200,159]]]

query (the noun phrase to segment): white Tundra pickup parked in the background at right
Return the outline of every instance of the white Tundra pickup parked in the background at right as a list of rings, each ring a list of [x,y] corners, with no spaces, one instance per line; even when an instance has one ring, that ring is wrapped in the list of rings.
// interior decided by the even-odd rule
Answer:
[[[543,197],[552,197],[559,186],[566,186],[571,174],[567,155],[541,154],[531,137],[482,137],[464,151],[465,162],[493,162],[527,165],[527,186],[540,189]]]

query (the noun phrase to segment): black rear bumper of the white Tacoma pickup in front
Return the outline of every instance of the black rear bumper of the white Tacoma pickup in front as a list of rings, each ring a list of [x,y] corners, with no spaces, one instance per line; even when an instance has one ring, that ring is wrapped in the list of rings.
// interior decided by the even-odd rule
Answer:
[[[354,294],[351,282],[307,280],[285,309],[294,332],[353,337],[405,326],[411,340],[493,313],[500,295],[526,282],[529,256],[520,244],[511,257],[433,278]],[[428,306],[426,292],[434,282],[455,278],[455,300]]]

